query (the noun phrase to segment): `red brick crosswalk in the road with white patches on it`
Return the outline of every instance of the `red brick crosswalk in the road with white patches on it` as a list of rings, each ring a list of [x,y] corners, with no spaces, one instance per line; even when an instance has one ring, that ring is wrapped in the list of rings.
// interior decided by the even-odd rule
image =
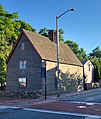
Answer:
[[[27,108],[48,110],[48,111],[59,111],[59,112],[71,112],[80,114],[90,114],[90,115],[101,115],[101,105],[98,104],[80,104],[80,103],[70,103],[62,101],[51,101],[45,103],[38,103]]]

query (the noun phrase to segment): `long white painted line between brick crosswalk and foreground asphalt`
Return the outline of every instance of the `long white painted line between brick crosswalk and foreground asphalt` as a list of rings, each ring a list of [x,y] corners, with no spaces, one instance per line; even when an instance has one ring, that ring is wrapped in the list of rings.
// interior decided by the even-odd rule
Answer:
[[[60,114],[60,115],[71,115],[71,116],[82,116],[89,117],[92,119],[101,119],[100,115],[89,115],[89,114],[79,114],[79,113],[71,113],[71,112],[57,112],[57,111],[47,111],[47,110],[39,110],[39,109],[31,109],[31,108],[23,108],[26,111],[34,111],[34,112],[43,112],[43,113],[51,113],[51,114]]]

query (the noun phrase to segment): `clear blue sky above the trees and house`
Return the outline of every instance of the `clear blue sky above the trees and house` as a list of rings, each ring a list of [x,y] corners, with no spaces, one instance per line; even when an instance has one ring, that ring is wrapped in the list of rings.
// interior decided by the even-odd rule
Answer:
[[[72,40],[87,53],[101,48],[101,0],[0,0],[5,11],[18,12],[19,19],[36,28],[56,29],[56,16],[74,8],[59,18],[64,39]]]

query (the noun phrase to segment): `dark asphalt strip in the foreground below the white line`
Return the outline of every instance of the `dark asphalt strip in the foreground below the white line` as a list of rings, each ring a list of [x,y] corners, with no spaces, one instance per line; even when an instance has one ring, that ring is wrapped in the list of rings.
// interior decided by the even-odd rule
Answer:
[[[52,114],[47,112],[29,111],[23,109],[1,109],[0,119],[98,119],[88,116],[69,114]]]

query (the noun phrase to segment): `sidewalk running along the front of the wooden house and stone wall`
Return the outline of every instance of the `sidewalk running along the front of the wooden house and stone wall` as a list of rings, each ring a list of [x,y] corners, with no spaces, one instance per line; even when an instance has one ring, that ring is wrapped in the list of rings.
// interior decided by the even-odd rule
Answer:
[[[37,103],[44,103],[44,102],[47,103],[50,101],[59,100],[61,98],[71,97],[71,96],[73,97],[73,96],[82,95],[82,94],[86,94],[86,93],[97,93],[99,91],[101,92],[101,88],[77,92],[77,93],[62,94],[62,95],[60,95],[60,97],[57,97],[56,95],[52,95],[52,96],[47,96],[47,100],[45,100],[44,97],[40,98],[40,99],[0,98],[0,105],[4,105],[4,106],[28,106],[28,105],[33,105],[33,104],[37,104]]]

